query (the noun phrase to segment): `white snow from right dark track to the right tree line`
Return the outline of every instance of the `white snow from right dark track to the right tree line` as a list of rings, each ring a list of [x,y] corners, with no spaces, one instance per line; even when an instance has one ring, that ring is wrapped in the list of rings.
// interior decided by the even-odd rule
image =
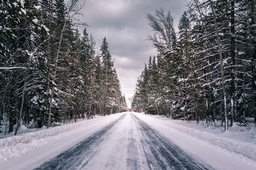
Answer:
[[[134,113],[135,114],[135,113]],[[177,124],[175,120],[169,120],[159,116],[150,116],[136,113],[145,123],[161,132],[166,138],[184,148],[184,150],[199,157],[216,169],[255,169],[256,145],[238,139],[221,137],[184,125]],[[205,129],[205,128],[204,128]],[[222,134],[227,134],[225,132]],[[232,133],[232,132],[230,132]],[[239,136],[239,134],[238,134]],[[228,165],[228,166],[227,166]],[[250,165],[246,168],[243,166]],[[240,168],[239,168],[240,167]]]

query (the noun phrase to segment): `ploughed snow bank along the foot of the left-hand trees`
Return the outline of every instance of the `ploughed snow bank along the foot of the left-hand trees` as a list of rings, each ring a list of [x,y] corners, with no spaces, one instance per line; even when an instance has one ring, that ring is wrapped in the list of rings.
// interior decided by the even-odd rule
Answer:
[[[108,117],[99,117],[96,119],[93,118],[83,122],[50,127],[49,129],[42,129],[35,132],[28,132],[18,136],[0,139],[0,162],[8,160],[11,157],[19,157],[20,155],[27,153],[31,148],[44,145],[49,142],[49,138],[63,138],[64,135],[58,136],[59,134],[66,134],[69,132],[67,135],[70,135],[73,131],[77,131],[77,129],[89,129],[95,124],[97,124],[98,127],[102,127],[118,117],[120,117],[120,114],[110,115]],[[81,134],[81,136],[84,134],[86,134],[86,131]]]

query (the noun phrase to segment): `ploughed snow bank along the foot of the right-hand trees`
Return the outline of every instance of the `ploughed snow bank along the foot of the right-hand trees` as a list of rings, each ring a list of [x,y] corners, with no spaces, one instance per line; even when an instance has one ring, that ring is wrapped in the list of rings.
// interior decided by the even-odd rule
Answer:
[[[148,117],[148,115],[136,114],[139,117]],[[238,153],[243,155],[244,157],[248,157],[253,161],[256,161],[256,145],[255,143],[249,143],[246,141],[241,141],[238,139],[225,138],[223,136],[218,136],[216,134],[212,134],[211,132],[206,132],[202,129],[194,129],[191,127],[186,127],[185,125],[175,124],[175,120],[164,119],[163,117],[150,116],[152,118],[151,121],[154,121],[156,124],[164,125],[166,128],[169,128],[171,131],[182,132],[184,134],[188,134],[189,136],[193,136],[194,138],[200,139],[207,143],[211,143],[212,145],[219,146],[228,150],[229,152]],[[202,128],[202,127],[201,127]],[[222,134],[228,134],[230,132],[224,132]],[[239,133],[239,132],[236,132]]]

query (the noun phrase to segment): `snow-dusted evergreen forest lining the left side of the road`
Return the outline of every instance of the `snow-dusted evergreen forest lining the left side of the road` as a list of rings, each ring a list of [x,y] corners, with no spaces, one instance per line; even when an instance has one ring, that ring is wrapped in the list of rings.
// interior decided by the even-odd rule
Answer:
[[[4,134],[127,110],[106,38],[97,52],[92,35],[74,24],[78,0],[0,2]]]

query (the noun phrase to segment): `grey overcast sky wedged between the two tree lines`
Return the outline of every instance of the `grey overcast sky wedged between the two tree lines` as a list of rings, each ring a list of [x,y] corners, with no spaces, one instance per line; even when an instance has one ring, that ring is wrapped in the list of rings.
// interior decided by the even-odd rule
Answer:
[[[153,32],[145,14],[159,8],[170,10],[177,25],[185,4],[184,0],[86,0],[83,20],[89,25],[87,32],[92,34],[98,49],[106,36],[129,106],[128,99],[134,94],[144,63],[150,55],[156,55],[152,43],[147,41]]]

